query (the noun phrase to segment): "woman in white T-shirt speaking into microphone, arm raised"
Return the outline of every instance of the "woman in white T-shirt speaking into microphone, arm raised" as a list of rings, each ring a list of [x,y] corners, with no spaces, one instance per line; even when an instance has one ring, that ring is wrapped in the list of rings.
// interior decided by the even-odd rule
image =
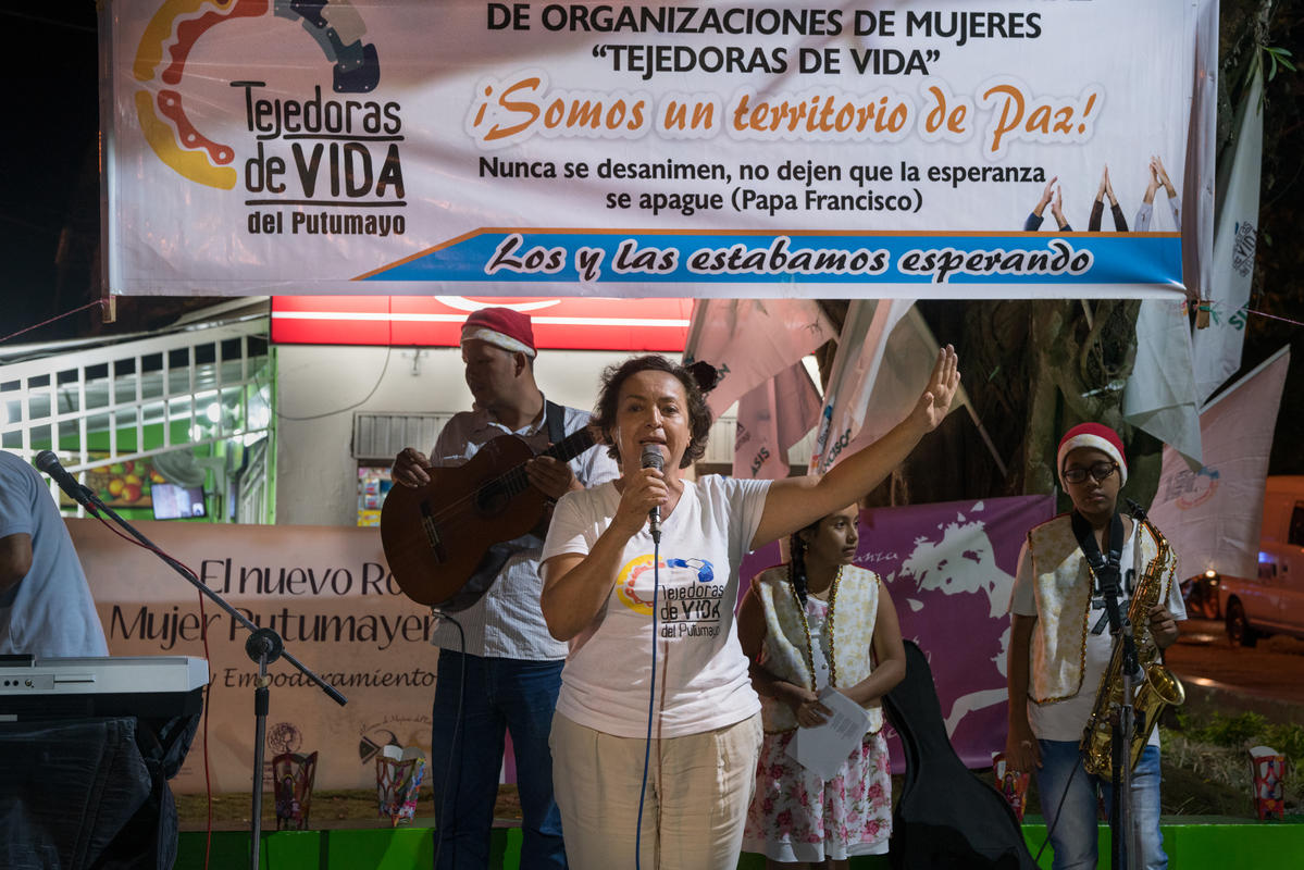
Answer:
[[[683,470],[711,425],[692,376],[660,356],[608,369],[595,425],[621,477],[563,496],[542,556],[544,618],[570,642],[552,749],[572,867],[632,866],[636,836],[644,867],[737,866],[762,742],[734,625],[738,565],[868,493],[941,423],[958,383],[948,346],[910,415],[819,479],[692,481]]]

